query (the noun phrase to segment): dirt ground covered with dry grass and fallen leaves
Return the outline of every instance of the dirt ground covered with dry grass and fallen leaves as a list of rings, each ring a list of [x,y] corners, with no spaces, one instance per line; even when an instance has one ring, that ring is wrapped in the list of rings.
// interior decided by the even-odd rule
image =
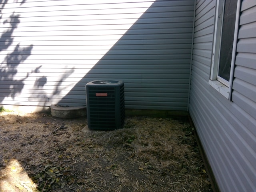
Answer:
[[[0,112],[0,192],[211,192],[188,122],[127,117],[95,131],[85,117]]]

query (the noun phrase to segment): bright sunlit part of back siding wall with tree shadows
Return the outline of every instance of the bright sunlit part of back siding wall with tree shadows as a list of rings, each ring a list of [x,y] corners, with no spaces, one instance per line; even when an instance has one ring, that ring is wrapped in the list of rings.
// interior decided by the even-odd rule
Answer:
[[[2,104],[58,102],[154,0],[17,0],[1,12]],[[84,90],[76,91],[84,99]]]

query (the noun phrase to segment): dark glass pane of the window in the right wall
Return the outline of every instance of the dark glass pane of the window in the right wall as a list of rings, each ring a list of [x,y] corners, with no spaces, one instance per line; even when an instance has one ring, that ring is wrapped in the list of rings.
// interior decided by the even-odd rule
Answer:
[[[218,76],[224,78],[227,81],[229,81],[230,76],[233,40],[236,23],[236,6],[237,0],[225,1]]]

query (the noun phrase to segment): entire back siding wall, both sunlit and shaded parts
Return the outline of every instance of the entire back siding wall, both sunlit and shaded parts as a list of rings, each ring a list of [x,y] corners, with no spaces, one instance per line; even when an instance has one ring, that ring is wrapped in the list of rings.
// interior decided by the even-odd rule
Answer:
[[[0,104],[86,104],[125,82],[126,108],[187,110],[194,0],[3,3]]]

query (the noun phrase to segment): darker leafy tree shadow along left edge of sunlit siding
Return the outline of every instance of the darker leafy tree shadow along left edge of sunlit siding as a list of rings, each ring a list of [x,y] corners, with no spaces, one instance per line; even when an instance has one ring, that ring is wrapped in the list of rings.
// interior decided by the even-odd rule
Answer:
[[[23,0],[21,4],[26,2]],[[5,5],[8,3],[8,0],[0,0],[1,10],[4,9]],[[14,50],[8,53],[3,62],[0,64],[0,102],[4,100],[4,98],[11,96],[15,98],[16,94],[19,94],[24,88],[24,80],[28,78],[29,73],[26,76],[19,80],[15,80],[15,75],[18,72],[18,65],[24,62],[28,56],[30,56],[33,45],[30,46],[20,46],[18,43],[16,46],[13,45],[14,37],[12,36],[14,30],[18,27],[20,23],[20,15],[12,13],[9,18],[3,20],[2,14],[0,16],[0,26],[9,24],[7,30],[5,30],[0,36],[0,54],[4,50],[8,50],[11,47],[14,47]],[[36,70],[34,70],[36,71]]]

